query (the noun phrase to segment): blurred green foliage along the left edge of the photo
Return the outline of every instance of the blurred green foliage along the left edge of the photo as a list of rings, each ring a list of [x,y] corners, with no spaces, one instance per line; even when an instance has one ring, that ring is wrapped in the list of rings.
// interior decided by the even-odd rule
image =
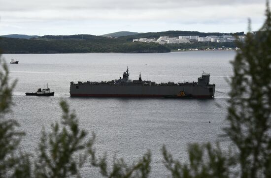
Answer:
[[[29,177],[31,172],[29,155],[24,153],[18,155],[17,149],[24,133],[16,131],[19,126],[17,121],[4,117],[10,112],[12,89],[16,81],[8,83],[7,65],[2,59],[0,63],[2,63],[0,69],[0,178]]]

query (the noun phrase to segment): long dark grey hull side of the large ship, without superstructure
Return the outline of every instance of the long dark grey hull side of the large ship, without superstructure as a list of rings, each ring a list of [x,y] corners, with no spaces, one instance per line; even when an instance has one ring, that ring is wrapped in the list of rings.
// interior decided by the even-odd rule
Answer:
[[[184,95],[179,93],[184,91]],[[83,85],[70,84],[73,97],[173,97],[212,98],[215,85],[208,86],[136,86],[136,85]]]

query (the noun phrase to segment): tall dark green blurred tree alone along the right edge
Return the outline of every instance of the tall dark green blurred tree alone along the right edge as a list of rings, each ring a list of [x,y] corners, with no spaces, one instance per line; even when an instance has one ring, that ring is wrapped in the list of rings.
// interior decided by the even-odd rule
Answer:
[[[271,177],[271,12],[232,62],[234,77],[226,133],[238,148],[242,178]]]

